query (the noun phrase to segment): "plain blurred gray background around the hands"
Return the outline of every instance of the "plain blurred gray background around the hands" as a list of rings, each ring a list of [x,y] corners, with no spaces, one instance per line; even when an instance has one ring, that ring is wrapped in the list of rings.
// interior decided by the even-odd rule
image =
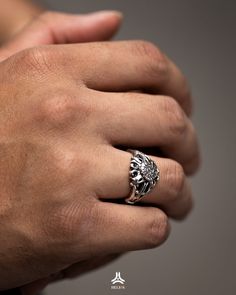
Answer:
[[[186,222],[173,223],[165,245],[52,285],[47,294],[236,294],[236,1],[48,3],[68,12],[121,10],[119,39],[148,39],[177,62],[192,84],[203,166],[193,179],[195,210]],[[126,280],[125,292],[110,290],[116,271]]]

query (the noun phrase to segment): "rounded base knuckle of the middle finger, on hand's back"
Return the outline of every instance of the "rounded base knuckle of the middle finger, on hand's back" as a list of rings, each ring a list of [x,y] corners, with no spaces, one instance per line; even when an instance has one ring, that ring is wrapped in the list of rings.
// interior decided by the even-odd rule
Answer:
[[[71,83],[68,81],[67,83]],[[68,130],[77,125],[87,125],[97,110],[92,100],[87,99],[86,89],[55,87],[42,91],[37,106],[32,105],[32,120],[39,128]],[[52,94],[51,94],[52,93]]]

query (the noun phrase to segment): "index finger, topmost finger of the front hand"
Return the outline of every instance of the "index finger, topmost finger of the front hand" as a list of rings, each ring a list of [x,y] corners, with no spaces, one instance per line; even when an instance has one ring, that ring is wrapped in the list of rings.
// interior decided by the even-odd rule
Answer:
[[[174,97],[186,114],[190,115],[192,101],[186,78],[152,43],[85,43],[67,46],[65,50],[66,55],[70,57],[66,60],[67,69],[75,78],[78,74],[82,76],[89,88],[168,95]],[[77,69],[75,65],[78,65]]]

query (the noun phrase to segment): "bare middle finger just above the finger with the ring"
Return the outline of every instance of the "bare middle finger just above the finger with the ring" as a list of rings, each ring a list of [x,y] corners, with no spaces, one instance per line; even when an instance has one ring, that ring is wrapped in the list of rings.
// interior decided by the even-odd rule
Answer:
[[[114,146],[158,147],[195,172],[199,165],[198,142],[190,119],[171,97],[142,93],[101,93],[100,133]],[[98,106],[99,107],[99,106]]]

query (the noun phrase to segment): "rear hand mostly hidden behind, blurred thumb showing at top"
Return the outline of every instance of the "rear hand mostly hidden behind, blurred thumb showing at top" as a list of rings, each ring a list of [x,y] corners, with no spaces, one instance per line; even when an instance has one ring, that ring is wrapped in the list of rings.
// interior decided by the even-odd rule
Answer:
[[[1,1],[0,1],[1,2]],[[5,3],[5,2],[4,2]],[[8,3],[9,5],[10,3]],[[5,3],[6,5],[6,3]],[[32,17],[33,12],[28,7],[28,18]],[[38,11],[34,7],[34,12]],[[91,42],[110,39],[118,30],[121,23],[121,14],[116,11],[100,11],[87,15],[69,15],[58,12],[44,12],[34,18],[34,21],[25,26],[24,30],[18,33],[4,48],[6,56],[16,53],[27,47],[45,44]],[[9,20],[8,20],[9,21]],[[26,21],[25,21],[26,22]],[[22,22],[17,22],[13,31],[19,29]],[[6,58],[5,56],[5,58]],[[113,254],[92,258],[84,262],[76,263],[59,274],[54,274],[48,278],[26,284],[21,287],[23,294],[35,294],[43,289],[48,283],[65,277],[75,277],[95,268],[99,268],[120,255]]]

